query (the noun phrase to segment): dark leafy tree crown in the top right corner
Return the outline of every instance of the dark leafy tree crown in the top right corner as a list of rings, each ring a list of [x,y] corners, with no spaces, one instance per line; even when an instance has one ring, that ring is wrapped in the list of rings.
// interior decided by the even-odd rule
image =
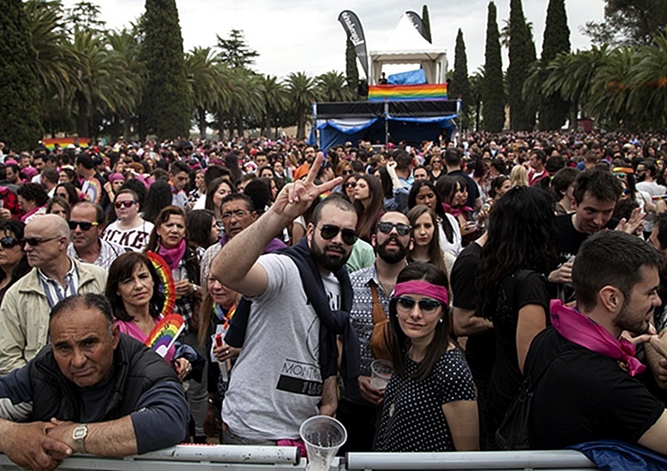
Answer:
[[[667,2],[664,0],[605,0],[605,19],[589,21],[584,34],[597,46],[641,46],[651,44],[665,32]]]

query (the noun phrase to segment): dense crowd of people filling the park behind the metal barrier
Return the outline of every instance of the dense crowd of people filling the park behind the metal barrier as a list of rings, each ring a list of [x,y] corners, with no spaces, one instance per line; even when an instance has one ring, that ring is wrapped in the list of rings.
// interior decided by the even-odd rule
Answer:
[[[496,450],[529,379],[536,449],[665,454],[665,153],[565,131],[0,143],[0,451],[302,446],[316,414],[341,453]],[[141,345],[172,313],[160,358]]]

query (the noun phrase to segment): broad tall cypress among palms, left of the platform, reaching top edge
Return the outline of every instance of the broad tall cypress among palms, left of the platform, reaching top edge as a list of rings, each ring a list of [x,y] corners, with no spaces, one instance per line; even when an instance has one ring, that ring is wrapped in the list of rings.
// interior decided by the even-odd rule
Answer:
[[[146,0],[142,58],[148,79],[143,112],[158,139],[187,138],[193,104],[175,0]]]

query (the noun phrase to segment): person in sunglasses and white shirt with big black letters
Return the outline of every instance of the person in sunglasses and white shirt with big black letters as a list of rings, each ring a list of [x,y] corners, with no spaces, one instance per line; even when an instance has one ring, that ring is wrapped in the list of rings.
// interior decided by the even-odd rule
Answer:
[[[139,215],[139,197],[133,190],[124,188],[113,199],[116,219],[104,229],[102,238],[107,242],[141,252],[148,243],[154,225]]]

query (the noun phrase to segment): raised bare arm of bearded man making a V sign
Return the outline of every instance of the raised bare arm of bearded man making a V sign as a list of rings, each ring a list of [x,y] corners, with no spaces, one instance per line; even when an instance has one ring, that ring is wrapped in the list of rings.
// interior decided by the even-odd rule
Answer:
[[[342,178],[316,185],[315,176],[323,157],[318,156],[305,180],[286,184],[264,215],[232,238],[211,264],[211,273],[220,283],[239,293],[253,297],[267,288],[266,271],[257,263],[272,236],[310,207],[313,200],[341,183]]]

